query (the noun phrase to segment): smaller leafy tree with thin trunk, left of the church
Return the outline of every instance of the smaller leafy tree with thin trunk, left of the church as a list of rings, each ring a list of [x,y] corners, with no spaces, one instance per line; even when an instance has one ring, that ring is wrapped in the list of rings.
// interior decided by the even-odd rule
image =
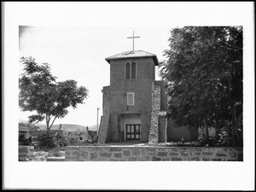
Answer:
[[[19,79],[19,105],[22,111],[37,113],[29,116],[29,123],[45,119],[49,131],[55,119],[67,115],[68,107],[77,108],[87,98],[88,90],[76,81],[57,82],[48,63],[39,65],[32,57],[21,57],[20,62],[25,72]]]

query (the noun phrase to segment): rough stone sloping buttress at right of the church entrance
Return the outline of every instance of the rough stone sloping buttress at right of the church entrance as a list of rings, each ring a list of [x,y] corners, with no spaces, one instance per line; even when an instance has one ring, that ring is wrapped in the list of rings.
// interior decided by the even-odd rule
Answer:
[[[159,113],[160,113],[160,85],[154,85],[153,97],[152,97],[152,112],[149,128],[148,143],[158,143],[158,131],[159,131]]]

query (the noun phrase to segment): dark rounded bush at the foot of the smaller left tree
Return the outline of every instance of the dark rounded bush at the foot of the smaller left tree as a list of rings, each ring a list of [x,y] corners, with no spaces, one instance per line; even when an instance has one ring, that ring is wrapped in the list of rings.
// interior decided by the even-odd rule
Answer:
[[[38,148],[40,149],[51,149],[51,148],[62,148],[67,146],[67,139],[62,137],[58,133],[53,133],[52,131],[46,131],[40,134],[36,141],[38,143]]]

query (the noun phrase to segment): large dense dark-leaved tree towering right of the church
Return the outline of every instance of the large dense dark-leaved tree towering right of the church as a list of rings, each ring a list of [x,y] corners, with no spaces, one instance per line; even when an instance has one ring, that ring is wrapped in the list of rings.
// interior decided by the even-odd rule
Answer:
[[[168,117],[206,131],[228,122],[235,138],[242,117],[241,26],[174,28],[169,41],[160,72],[171,97]]]

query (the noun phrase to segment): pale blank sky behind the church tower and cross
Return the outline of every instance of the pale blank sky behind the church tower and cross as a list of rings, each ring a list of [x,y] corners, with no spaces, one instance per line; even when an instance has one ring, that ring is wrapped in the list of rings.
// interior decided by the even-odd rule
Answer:
[[[102,87],[108,86],[109,64],[105,58],[132,50],[145,50],[165,60],[163,51],[168,49],[172,27],[120,27],[120,26],[20,26],[19,54],[32,56],[38,63],[48,62],[58,81],[74,79],[79,86],[89,90],[89,97],[78,108],[68,108],[69,113],[57,124],[96,125],[102,115]],[[158,69],[158,67],[156,67]],[[23,71],[20,63],[20,73]],[[159,70],[156,79],[159,80]],[[31,112],[20,110],[19,118],[26,120]],[[42,121],[41,123],[44,123]]]

